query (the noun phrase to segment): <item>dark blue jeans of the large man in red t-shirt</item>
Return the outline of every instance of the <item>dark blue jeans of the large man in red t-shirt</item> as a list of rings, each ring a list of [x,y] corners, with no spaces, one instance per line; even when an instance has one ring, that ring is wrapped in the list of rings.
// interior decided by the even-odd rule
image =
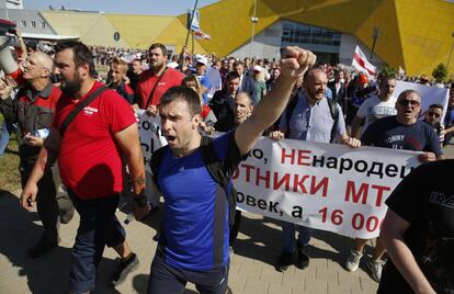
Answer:
[[[71,250],[69,290],[72,293],[86,293],[95,286],[97,269],[104,247],[123,244],[126,235],[115,216],[118,195],[82,200],[70,190],[68,194],[80,215]]]

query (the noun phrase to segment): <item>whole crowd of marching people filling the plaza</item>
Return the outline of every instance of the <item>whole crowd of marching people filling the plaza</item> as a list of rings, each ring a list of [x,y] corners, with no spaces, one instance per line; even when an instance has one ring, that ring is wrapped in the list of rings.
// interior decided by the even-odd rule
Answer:
[[[71,293],[94,287],[105,246],[121,257],[113,285],[138,265],[115,216],[120,195],[134,199],[137,219],[163,206],[148,293],[182,293],[188,281],[202,293],[225,293],[241,220],[231,206],[230,178],[260,136],[421,151],[423,165],[386,202],[382,235],[366,265],[379,293],[454,292],[453,189],[445,179],[454,162],[441,160],[454,134],[454,82],[433,84],[451,88],[447,109],[432,104],[420,117],[420,93],[394,91],[399,79],[430,83],[424,75],[370,77],[343,65],[316,65],[316,56],[298,47],[285,48],[281,60],[240,60],[185,48],[170,56],[159,43],[143,52],[65,42],[46,53],[29,47],[18,63],[23,81],[0,80],[7,134],[1,140],[16,128],[21,205],[30,211],[36,203],[43,222],[30,258],[59,244],[65,217],[56,201],[58,166],[72,203],[63,213],[80,215]],[[95,65],[109,66],[107,75],[101,77]],[[140,110],[160,116],[168,143],[154,154],[152,173],[143,163],[134,114]],[[37,132],[43,129],[48,135]],[[225,134],[206,139],[214,132]],[[314,230],[282,222],[277,271],[309,267]],[[347,271],[359,269],[366,241],[355,239]]]

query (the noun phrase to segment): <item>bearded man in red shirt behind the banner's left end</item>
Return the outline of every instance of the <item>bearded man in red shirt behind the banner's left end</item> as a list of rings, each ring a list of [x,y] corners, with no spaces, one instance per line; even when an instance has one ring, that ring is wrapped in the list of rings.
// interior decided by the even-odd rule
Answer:
[[[141,72],[137,89],[135,109],[147,110],[149,115],[158,113],[157,106],[167,90],[180,86],[184,76],[180,71],[167,67],[168,52],[160,43],[152,44],[148,49],[150,68]]]

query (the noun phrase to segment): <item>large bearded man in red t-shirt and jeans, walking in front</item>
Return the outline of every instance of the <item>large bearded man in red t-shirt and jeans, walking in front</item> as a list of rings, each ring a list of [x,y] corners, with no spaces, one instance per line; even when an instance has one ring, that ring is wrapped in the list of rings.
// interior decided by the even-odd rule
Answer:
[[[57,103],[50,134],[23,189],[21,205],[27,211],[34,206],[38,192],[36,183],[58,157],[61,181],[80,215],[71,250],[69,290],[88,293],[94,289],[105,245],[122,257],[113,276],[114,284],[121,283],[138,265],[115,211],[123,190],[122,159],[128,165],[133,179],[135,200],[139,201],[135,203],[144,203],[144,159],[134,113],[113,90],[99,93],[64,131],[64,122],[72,110],[103,84],[93,78],[93,58],[86,45],[66,42],[55,49],[54,64],[56,74],[61,77],[64,94]],[[148,213],[148,207],[135,205],[135,213],[140,217]]]

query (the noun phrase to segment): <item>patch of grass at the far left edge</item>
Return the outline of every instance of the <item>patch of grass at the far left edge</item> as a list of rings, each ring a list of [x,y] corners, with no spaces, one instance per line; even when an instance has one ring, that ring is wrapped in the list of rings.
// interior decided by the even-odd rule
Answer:
[[[3,124],[3,116],[0,114],[1,124]],[[0,190],[16,192],[21,189],[18,152],[18,140],[15,139],[15,134],[12,134],[7,150],[3,157],[0,158]]]

